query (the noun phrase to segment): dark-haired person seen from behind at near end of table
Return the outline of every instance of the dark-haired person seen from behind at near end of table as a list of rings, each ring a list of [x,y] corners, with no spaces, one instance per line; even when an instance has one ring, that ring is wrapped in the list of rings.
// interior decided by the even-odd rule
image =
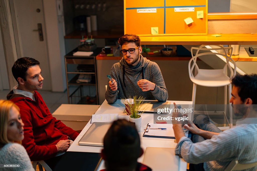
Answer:
[[[150,167],[137,162],[143,153],[135,124],[125,119],[114,121],[104,136],[104,148],[101,151],[105,170],[150,171]]]

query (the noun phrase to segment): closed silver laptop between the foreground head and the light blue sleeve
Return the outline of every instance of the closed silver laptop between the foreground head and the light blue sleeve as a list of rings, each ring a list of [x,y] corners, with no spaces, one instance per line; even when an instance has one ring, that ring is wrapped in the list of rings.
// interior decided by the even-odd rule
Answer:
[[[185,162],[175,155],[175,148],[146,147],[143,164],[151,167],[153,171],[186,170],[186,164],[180,166],[180,160]]]

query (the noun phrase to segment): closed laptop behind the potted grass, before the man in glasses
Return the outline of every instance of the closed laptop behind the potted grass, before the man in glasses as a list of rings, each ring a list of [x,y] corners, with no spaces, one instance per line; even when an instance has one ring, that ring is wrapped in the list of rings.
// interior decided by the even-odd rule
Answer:
[[[170,107],[169,101],[144,101],[144,104],[141,105],[140,111],[145,111],[144,113],[157,113],[157,109]],[[167,114],[167,112],[161,112],[160,114]]]

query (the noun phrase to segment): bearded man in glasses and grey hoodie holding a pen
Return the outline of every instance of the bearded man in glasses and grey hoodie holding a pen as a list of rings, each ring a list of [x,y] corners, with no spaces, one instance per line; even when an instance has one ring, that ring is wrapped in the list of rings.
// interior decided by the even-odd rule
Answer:
[[[147,100],[166,101],[166,89],[161,70],[157,63],[144,58],[137,35],[125,34],[118,41],[123,55],[120,62],[113,64],[105,98],[109,103],[117,99],[143,96]]]

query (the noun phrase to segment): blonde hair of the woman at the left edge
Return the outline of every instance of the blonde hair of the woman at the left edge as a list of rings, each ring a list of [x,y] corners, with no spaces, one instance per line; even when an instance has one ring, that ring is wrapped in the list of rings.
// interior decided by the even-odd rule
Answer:
[[[0,147],[9,143],[7,139],[7,125],[9,119],[9,112],[15,107],[17,110],[20,110],[12,101],[9,100],[0,100]]]

